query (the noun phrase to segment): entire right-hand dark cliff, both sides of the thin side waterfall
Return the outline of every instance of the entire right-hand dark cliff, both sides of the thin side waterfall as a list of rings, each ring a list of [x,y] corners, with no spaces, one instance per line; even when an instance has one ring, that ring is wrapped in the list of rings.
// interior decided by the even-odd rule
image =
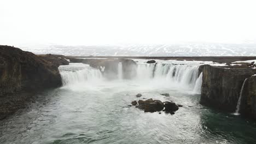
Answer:
[[[201,65],[200,104],[235,112],[242,92],[241,115],[256,118],[256,78],[252,76],[256,74],[254,66],[253,63],[225,67]],[[242,89],[243,82],[245,85]]]

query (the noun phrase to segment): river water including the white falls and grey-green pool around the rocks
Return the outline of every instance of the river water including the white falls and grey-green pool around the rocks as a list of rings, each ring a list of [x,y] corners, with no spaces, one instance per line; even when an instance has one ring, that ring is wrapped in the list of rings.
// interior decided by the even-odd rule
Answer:
[[[255,143],[255,122],[199,104],[198,67],[206,63],[161,61],[154,69],[138,60],[132,80],[122,79],[121,64],[115,80],[86,64],[62,65],[63,86],[0,121],[0,143]],[[171,115],[130,106],[143,98],[183,107]]]

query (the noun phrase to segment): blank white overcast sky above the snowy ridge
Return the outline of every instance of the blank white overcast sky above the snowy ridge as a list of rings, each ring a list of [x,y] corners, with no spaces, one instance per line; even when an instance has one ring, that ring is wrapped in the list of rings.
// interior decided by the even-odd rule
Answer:
[[[256,41],[256,1],[0,0],[0,44]]]

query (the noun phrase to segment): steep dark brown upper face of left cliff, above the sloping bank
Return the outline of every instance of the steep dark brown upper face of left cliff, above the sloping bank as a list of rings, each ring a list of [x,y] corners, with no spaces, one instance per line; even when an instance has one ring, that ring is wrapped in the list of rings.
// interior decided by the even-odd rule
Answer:
[[[58,64],[31,52],[0,46],[1,95],[17,91],[61,86]]]

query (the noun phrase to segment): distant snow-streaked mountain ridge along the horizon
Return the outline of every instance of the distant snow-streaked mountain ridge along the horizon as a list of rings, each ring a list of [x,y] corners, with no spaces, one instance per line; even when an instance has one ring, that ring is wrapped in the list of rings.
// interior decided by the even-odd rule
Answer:
[[[21,45],[36,54],[66,56],[256,56],[256,44],[171,44],[171,45]]]

